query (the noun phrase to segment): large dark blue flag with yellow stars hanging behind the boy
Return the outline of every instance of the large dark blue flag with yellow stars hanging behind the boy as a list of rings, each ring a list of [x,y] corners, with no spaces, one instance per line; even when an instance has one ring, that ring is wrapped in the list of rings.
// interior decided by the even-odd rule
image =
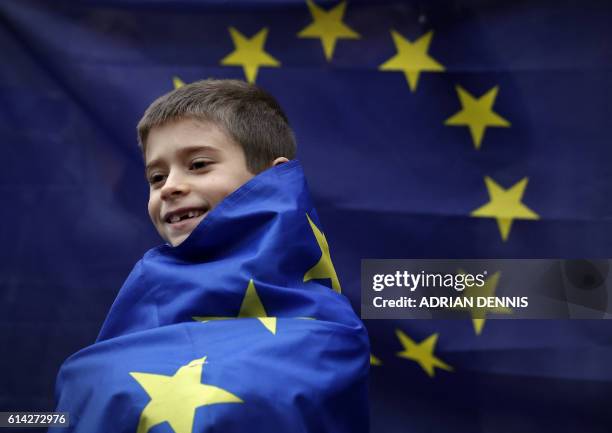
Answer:
[[[325,233],[355,308],[362,258],[612,257],[611,19],[598,0],[0,3],[0,338],[18,348],[2,361],[4,409],[54,407],[59,364],[91,344],[130,267],[159,242],[134,126],[182,83],[239,78],[279,100],[319,218],[305,214]],[[584,271],[576,286],[599,290],[589,281],[609,272]],[[233,275],[226,313],[198,303],[113,319],[122,294],[95,347],[123,333],[132,342],[172,315],[189,332],[212,332],[226,326],[214,317],[240,315],[247,292],[279,316],[277,333],[267,319],[236,321],[232,332],[251,326],[251,338],[277,341],[284,322],[327,324],[303,303],[292,317],[316,321],[280,318],[288,305],[267,299],[253,268]],[[160,300],[143,301],[153,312]],[[607,322],[495,317],[366,323],[371,430],[610,430]],[[120,414],[137,418],[152,400],[136,377],[175,377],[191,362],[202,386],[245,402],[196,409],[196,422],[209,410],[247,410],[245,390],[215,373],[223,357],[188,352],[173,365],[126,366],[124,386],[140,400]]]

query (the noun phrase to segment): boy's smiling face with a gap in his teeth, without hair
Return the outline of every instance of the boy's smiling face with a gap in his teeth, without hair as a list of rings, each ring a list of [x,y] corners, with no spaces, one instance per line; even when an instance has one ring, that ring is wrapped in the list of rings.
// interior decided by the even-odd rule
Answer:
[[[153,128],[145,152],[149,216],[172,246],[254,177],[244,152],[214,123],[182,119]]]

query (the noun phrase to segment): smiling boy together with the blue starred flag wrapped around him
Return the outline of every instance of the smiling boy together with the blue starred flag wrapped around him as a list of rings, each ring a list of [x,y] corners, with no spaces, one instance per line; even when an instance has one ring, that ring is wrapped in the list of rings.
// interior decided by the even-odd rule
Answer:
[[[367,431],[367,335],[278,103],[200,81],[153,102],[138,134],[167,243],[62,366],[72,431]]]

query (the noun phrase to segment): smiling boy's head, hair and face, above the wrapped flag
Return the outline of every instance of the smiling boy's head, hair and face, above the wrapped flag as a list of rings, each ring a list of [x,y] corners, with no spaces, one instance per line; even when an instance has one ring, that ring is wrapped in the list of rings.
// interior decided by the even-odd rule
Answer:
[[[151,186],[149,215],[173,246],[223,198],[255,174],[292,159],[296,148],[278,103],[255,86],[230,80],[194,83],[159,98],[138,124],[138,138]],[[183,154],[199,167],[183,166]],[[189,193],[199,203],[189,198],[186,208],[198,215],[166,221],[184,217],[174,208],[185,208],[181,201]]]

